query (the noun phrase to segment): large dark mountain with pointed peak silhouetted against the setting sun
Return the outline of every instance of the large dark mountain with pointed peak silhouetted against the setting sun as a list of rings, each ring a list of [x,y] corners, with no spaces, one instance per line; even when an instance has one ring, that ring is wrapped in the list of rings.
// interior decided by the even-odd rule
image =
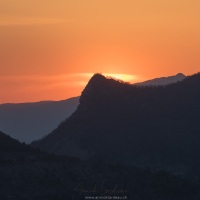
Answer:
[[[47,152],[200,174],[200,74],[138,87],[96,74],[75,113],[42,140]]]

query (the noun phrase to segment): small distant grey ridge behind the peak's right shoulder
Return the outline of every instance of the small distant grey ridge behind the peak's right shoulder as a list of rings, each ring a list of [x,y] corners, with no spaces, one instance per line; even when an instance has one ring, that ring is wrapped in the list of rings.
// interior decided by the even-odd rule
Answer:
[[[158,85],[168,85],[171,83],[176,83],[178,81],[182,81],[186,78],[186,76],[182,73],[178,73],[175,76],[168,76],[168,77],[161,77],[161,78],[155,78],[152,80],[144,81],[141,83],[136,83],[136,85],[141,85],[141,86],[147,86],[147,85],[152,85],[152,86],[158,86]]]

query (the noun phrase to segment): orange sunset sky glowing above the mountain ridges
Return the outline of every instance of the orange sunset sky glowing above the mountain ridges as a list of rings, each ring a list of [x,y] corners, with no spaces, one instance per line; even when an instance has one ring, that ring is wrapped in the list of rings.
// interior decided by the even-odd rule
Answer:
[[[0,0],[0,103],[200,71],[199,0]]]

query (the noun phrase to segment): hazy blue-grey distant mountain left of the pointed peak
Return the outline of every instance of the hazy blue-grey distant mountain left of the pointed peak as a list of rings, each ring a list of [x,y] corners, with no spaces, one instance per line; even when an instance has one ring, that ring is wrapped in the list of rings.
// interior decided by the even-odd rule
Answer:
[[[30,143],[48,134],[77,108],[79,97],[63,101],[1,104],[0,130]]]

